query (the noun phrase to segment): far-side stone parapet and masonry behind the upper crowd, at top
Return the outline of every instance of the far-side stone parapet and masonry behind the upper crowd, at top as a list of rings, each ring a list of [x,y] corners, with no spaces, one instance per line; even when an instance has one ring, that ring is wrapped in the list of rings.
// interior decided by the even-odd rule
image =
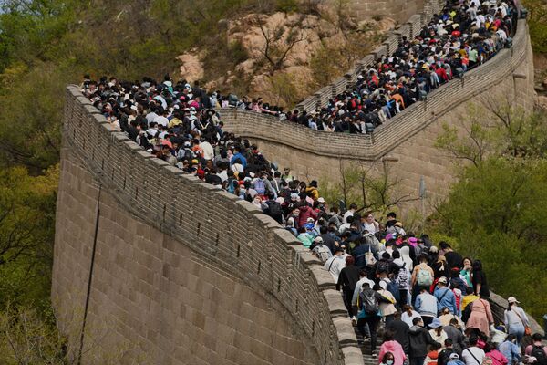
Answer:
[[[434,14],[439,14],[444,0],[351,0],[352,13],[357,19],[366,18],[366,15],[383,15],[393,14],[397,20],[401,22],[397,28],[390,32],[387,39],[377,47],[372,53],[356,63],[356,67],[350,69],[346,75],[335,79],[330,85],[317,90],[314,94],[300,102],[296,108],[300,110],[315,110],[315,108],[324,107],[328,99],[334,98],[336,95],[346,91],[348,87],[355,84],[357,76],[361,70],[372,66],[377,61],[377,58],[391,54],[398,47],[399,41],[403,36],[412,39],[418,36],[422,26],[428,24],[429,19]],[[375,9],[374,13],[371,9]]]

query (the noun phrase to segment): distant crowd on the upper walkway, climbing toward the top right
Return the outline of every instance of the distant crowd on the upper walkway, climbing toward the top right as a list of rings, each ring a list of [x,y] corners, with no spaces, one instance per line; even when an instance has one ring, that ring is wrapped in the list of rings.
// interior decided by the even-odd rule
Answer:
[[[285,113],[262,99],[233,96],[222,106],[277,115],[313,130],[370,133],[502,47],[511,47],[517,16],[512,0],[449,0],[418,36],[403,37],[393,54],[363,69],[356,84],[329,99],[324,108]]]

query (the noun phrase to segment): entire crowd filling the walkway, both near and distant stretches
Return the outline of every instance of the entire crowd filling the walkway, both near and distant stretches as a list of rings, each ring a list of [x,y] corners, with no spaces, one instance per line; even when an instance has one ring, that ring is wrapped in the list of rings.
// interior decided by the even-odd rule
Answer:
[[[317,130],[364,132],[404,110],[459,72],[488,59],[511,35],[514,5],[455,1],[414,41],[364,70],[356,89],[306,114],[262,100],[207,92],[198,82],[123,81],[86,75],[81,91],[115,129],[157,158],[253,203],[324,263],[366,349],[382,365],[547,365],[542,336],[510,297],[494,324],[480,260],[446,242],[406,232],[397,214],[379,223],[356,204],[328,207],[316,181],[296,179],[258,146],[223,130],[219,107],[284,115]],[[493,36],[495,35],[495,36]],[[495,326],[497,325],[497,326]],[[377,335],[383,342],[377,349]],[[528,340],[528,346],[523,346]],[[362,346],[365,346],[364,343]]]

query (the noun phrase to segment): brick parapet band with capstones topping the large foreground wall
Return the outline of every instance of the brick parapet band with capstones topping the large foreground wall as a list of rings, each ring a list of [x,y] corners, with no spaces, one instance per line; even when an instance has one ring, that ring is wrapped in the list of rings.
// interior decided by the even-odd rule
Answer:
[[[351,323],[341,297],[330,292],[332,279],[253,204],[142,151],[75,86],[67,87],[64,142],[128,212],[285,308],[321,363],[363,363],[352,355],[359,350],[355,333],[347,332]]]

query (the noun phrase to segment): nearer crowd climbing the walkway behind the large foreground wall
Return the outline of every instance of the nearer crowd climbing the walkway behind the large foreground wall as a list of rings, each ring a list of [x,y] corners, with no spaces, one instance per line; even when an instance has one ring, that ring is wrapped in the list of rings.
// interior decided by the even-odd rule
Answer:
[[[379,223],[356,204],[328,207],[316,181],[299,181],[258,146],[224,132],[219,114],[201,103],[199,86],[177,85],[169,75],[161,83],[87,76],[81,90],[142,148],[255,204],[293,233],[325,263],[378,363],[547,365],[541,335],[521,347],[529,319],[516,298],[494,327],[480,260],[406,232],[395,213]],[[384,341],[376,354],[378,328]]]

